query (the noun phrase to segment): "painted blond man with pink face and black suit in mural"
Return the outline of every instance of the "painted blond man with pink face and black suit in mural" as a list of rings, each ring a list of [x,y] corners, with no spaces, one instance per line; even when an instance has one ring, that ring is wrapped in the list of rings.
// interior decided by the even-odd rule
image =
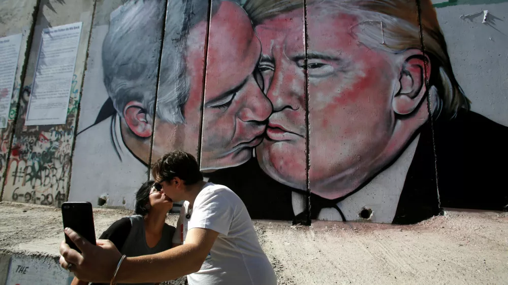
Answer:
[[[298,8],[262,20],[256,26],[264,47],[259,70],[273,113],[256,155],[263,171],[285,186],[253,174],[257,173],[256,165],[225,169],[220,179],[212,176],[211,181],[234,185],[240,193],[255,193],[258,199],[244,201],[264,213],[253,216],[279,219],[286,215],[283,208],[289,204],[297,215],[295,222],[304,221],[305,215],[298,213],[305,213],[308,194],[298,193],[306,189],[307,181],[304,171],[294,170],[306,165],[298,156],[305,143],[300,148],[297,144],[307,134],[302,127],[307,99],[311,219],[406,224],[437,215],[440,207],[506,209],[508,191],[500,187],[501,170],[473,167],[493,166],[491,159],[496,154],[506,158],[506,151],[500,148],[506,128],[469,111],[435,10],[430,1],[421,1],[420,9],[424,46],[416,2],[307,1],[307,52],[303,58],[287,51],[289,41],[300,33],[288,24],[300,14]],[[275,32],[280,29],[283,32]],[[277,60],[277,49],[286,50],[282,59]],[[271,52],[272,57],[265,52]],[[284,61],[291,65],[284,65]],[[304,69],[304,65],[307,97],[298,85],[303,70],[295,70]],[[275,123],[280,120],[277,110],[294,116],[282,121],[285,125]],[[276,130],[271,129],[272,119]],[[298,120],[300,129],[291,128]],[[438,184],[432,125],[437,176],[441,178]],[[469,128],[482,130],[483,135],[474,137]],[[267,151],[275,131],[286,146]],[[489,149],[479,141],[481,137],[494,141],[495,148],[490,151],[496,154],[479,152],[471,161],[464,155],[467,150]],[[460,173],[468,173],[469,178],[460,177]],[[484,178],[490,181],[484,183]],[[482,184],[488,187],[479,197],[475,192]],[[277,197],[285,187],[292,187],[293,194]],[[260,202],[259,197],[273,197],[275,202]],[[249,212],[255,212],[250,208]]]

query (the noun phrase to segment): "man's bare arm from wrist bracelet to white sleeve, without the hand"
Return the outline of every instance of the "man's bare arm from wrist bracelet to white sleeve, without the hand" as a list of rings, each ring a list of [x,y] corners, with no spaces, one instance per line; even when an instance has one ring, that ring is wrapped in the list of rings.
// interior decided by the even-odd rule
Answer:
[[[116,280],[119,283],[162,282],[198,272],[217,236],[210,229],[190,229],[183,245],[154,255],[126,258]]]

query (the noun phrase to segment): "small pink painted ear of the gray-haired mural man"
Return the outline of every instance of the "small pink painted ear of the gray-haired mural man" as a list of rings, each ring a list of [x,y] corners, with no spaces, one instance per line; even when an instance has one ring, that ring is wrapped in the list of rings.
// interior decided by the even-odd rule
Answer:
[[[152,135],[152,122],[149,121],[143,104],[138,101],[130,101],[123,108],[123,118],[129,129],[139,137]]]

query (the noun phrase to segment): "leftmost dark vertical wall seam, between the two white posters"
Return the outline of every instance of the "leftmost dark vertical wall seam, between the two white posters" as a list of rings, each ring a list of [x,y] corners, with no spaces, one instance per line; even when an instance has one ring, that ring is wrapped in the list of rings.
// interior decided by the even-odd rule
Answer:
[[[21,102],[21,96],[23,94],[23,91],[24,91],[24,83],[25,83],[25,76],[26,76],[26,69],[27,69],[27,65],[28,65],[28,59],[30,57],[30,51],[31,51],[31,45],[32,45],[32,42],[34,40],[34,32],[35,32],[35,26],[37,24],[37,16],[39,15],[39,9],[41,7],[41,0],[38,0],[36,5],[34,6],[34,12],[32,13],[32,25],[30,27],[30,33],[28,34],[28,39],[26,41],[26,50],[25,50],[25,59],[23,61],[23,66],[21,67],[23,70],[21,70],[21,73],[20,73],[20,76],[19,76],[19,81],[20,81],[20,86],[19,86],[19,93],[18,93],[18,101],[16,102],[16,107],[15,107],[15,110],[16,110],[16,116],[14,117],[14,119],[12,120],[12,133],[11,133],[11,139],[9,140],[9,150],[7,151],[7,157],[6,157],[6,160],[5,160],[5,170],[4,172],[2,173],[2,176],[4,177],[4,182],[2,183],[2,191],[0,191],[0,201],[3,201],[4,200],[4,188],[5,186],[7,185],[7,172],[9,170],[9,161],[11,160],[11,151],[12,151],[12,141],[14,139],[14,134],[16,133],[16,124],[18,122],[18,116],[19,116],[19,106],[20,106],[20,102]],[[11,97],[11,101],[12,101],[12,97]],[[12,108],[12,106],[11,106]],[[70,179],[69,179],[70,181]]]

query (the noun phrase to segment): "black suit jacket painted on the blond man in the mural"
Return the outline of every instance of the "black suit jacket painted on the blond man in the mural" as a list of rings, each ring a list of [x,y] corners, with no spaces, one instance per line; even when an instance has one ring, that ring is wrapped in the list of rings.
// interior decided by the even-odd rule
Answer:
[[[435,121],[433,127],[434,132],[428,122],[420,129],[393,223],[418,223],[438,215],[442,207],[507,210],[508,128],[465,110],[452,120]],[[301,191],[271,179],[255,159],[213,172],[209,182],[235,191],[252,219],[304,222],[299,220],[315,219],[320,207],[340,200],[311,194],[310,216],[295,217],[291,193]]]

